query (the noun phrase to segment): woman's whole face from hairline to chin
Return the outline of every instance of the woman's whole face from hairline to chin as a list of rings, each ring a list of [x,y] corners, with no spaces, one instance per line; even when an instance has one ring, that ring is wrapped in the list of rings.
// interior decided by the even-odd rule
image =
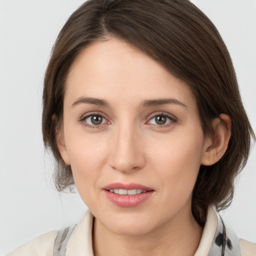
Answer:
[[[123,41],[95,42],[70,68],[63,111],[60,153],[104,227],[144,234],[191,217],[209,140],[183,81]]]

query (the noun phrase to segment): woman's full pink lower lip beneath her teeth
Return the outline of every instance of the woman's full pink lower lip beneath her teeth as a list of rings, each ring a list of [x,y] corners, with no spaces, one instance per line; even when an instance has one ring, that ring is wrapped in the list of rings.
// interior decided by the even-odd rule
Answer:
[[[104,190],[104,192],[106,197],[119,207],[135,207],[147,200],[152,195],[153,190],[134,195],[116,194],[108,190]]]

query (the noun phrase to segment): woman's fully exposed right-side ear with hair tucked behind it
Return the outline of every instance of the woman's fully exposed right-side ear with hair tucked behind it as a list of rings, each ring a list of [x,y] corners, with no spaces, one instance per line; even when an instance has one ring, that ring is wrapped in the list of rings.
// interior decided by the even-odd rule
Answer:
[[[231,119],[227,114],[220,114],[213,120],[214,138],[205,138],[201,159],[202,165],[212,165],[225,153],[231,135]]]

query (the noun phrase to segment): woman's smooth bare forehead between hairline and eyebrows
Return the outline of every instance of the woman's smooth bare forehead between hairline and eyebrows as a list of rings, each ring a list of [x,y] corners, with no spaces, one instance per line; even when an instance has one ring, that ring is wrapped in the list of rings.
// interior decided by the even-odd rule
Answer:
[[[125,99],[130,103],[135,99],[176,97],[186,104],[195,104],[184,81],[118,39],[94,42],[74,60],[66,80],[64,100],[81,96],[110,101]]]

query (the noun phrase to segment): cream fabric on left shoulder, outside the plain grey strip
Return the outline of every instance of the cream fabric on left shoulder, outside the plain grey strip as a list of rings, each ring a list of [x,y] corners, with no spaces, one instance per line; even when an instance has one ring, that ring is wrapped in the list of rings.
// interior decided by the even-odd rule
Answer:
[[[52,256],[57,230],[35,237],[33,240],[20,245],[7,256]]]

